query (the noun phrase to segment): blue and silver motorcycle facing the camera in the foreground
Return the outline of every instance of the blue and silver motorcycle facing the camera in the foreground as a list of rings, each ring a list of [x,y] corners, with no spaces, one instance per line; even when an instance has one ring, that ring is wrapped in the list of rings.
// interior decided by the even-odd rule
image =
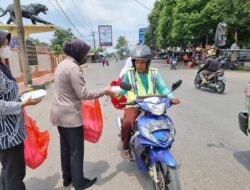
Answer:
[[[171,92],[181,83],[181,80],[174,83]],[[127,91],[132,88],[124,82],[120,87]],[[176,161],[170,153],[176,130],[171,118],[165,114],[171,100],[167,96],[138,96],[132,103],[122,104],[135,106],[140,111],[135,122],[136,130],[130,140],[132,160],[140,170],[149,174],[155,190],[180,190]],[[117,118],[117,124],[120,131],[121,117]]]

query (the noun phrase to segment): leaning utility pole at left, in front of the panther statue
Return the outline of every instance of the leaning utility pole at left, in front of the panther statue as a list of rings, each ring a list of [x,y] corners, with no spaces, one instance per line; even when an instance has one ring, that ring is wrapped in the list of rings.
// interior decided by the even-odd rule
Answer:
[[[16,28],[17,28],[19,49],[20,49],[20,55],[21,55],[21,64],[23,66],[24,85],[27,86],[27,85],[32,84],[32,79],[31,79],[30,70],[29,70],[27,52],[25,48],[21,5],[20,5],[20,0],[13,0],[13,1],[14,1],[14,8],[15,8],[15,23],[16,23]]]

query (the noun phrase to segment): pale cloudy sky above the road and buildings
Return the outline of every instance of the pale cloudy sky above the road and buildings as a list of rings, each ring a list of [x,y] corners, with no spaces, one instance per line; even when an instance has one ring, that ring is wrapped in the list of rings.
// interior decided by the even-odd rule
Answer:
[[[40,13],[38,16],[56,26],[71,28],[74,35],[86,41],[92,47],[95,33],[96,46],[99,46],[98,25],[112,25],[113,47],[107,47],[108,51],[114,51],[117,38],[124,36],[129,46],[138,43],[139,28],[148,26],[148,14],[153,9],[156,0],[20,0],[22,5],[41,3],[48,7],[47,15]],[[6,7],[12,0],[0,0],[0,7]],[[71,22],[63,14],[63,11]],[[2,23],[6,23],[9,14],[0,17]],[[31,24],[28,19],[23,19],[24,24]],[[39,24],[40,25],[40,24]],[[76,28],[76,29],[75,29]],[[32,38],[50,42],[53,32],[32,34]]]

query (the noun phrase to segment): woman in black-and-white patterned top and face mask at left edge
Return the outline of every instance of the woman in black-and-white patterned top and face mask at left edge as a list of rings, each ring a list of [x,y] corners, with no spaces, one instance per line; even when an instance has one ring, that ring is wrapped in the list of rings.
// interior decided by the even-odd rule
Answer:
[[[26,131],[22,107],[35,105],[40,100],[28,98],[21,102],[19,98],[16,80],[2,61],[6,58],[3,48],[8,46],[10,37],[10,33],[0,31],[0,190],[25,190],[23,141]]]

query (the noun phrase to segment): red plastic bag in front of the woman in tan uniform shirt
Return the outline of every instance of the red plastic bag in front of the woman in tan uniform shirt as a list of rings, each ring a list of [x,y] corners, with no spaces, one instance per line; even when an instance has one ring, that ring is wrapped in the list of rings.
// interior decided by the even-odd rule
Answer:
[[[102,111],[98,99],[82,101],[82,118],[84,140],[98,142],[103,128]]]

